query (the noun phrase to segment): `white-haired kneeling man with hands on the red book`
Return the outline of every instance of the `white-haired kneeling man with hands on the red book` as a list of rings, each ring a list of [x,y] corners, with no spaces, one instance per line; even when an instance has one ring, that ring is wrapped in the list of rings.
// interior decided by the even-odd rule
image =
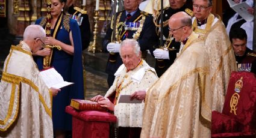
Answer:
[[[157,79],[154,68],[143,59],[139,43],[136,40],[122,41],[119,49],[123,64],[116,73],[113,85],[105,97],[97,95],[92,101],[98,101],[102,107],[114,111],[119,127],[118,137],[140,137],[144,103],[119,103],[120,95],[131,95],[135,91],[148,89]],[[107,97],[114,96],[113,102]],[[137,98],[143,99],[140,95]]]

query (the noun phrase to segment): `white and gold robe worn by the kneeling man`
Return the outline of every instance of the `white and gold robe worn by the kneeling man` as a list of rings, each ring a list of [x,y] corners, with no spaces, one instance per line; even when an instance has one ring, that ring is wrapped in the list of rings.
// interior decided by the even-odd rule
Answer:
[[[117,116],[119,127],[142,127],[142,116],[144,102],[142,103],[118,103],[120,95],[131,95],[135,91],[148,89],[157,79],[154,68],[150,67],[146,61],[142,62],[133,70],[126,72],[126,67],[122,64],[116,73],[113,85],[108,89],[105,97],[110,96],[116,91],[117,87],[120,94],[117,97],[114,115]]]

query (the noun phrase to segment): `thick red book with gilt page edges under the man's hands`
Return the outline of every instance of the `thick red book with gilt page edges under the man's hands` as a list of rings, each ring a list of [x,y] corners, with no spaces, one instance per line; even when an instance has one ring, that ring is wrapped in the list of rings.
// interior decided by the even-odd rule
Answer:
[[[90,100],[71,99],[70,106],[76,110],[107,111],[105,107],[101,107],[101,104]]]

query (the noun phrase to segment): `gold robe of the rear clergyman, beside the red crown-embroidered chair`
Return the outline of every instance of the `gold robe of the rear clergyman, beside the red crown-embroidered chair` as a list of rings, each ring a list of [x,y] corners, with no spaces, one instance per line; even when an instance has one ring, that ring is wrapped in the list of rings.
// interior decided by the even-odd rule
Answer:
[[[193,17],[195,25],[195,17]],[[210,22],[213,20],[214,22]],[[210,25],[208,25],[210,23]],[[208,26],[208,27],[207,27]],[[201,28],[204,30],[204,28]],[[209,55],[211,92],[213,93],[213,110],[222,112],[226,89],[232,71],[237,70],[234,50],[226,34],[222,21],[210,14],[204,33],[205,49]]]

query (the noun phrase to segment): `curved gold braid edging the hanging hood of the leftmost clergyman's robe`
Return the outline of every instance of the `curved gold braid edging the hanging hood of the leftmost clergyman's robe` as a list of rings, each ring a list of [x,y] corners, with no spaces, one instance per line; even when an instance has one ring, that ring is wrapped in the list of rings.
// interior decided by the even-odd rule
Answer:
[[[4,77],[4,76],[3,76]],[[4,80],[2,80],[4,81]],[[0,124],[1,125],[5,125],[8,121],[8,119],[10,119],[11,117],[11,113],[13,112],[13,104],[14,104],[14,98],[15,98],[15,85],[12,84],[11,85],[11,98],[10,98],[10,102],[9,102],[9,108],[8,108],[8,113],[7,113],[7,116],[5,116],[4,120],[0,120]],[[16,107],[16,110],[15,110],[15,115],[13,116],[13,120],[11,120],[11,122],[5,126],[4,128],[0,128],[0,131],[6,131],[10,126],[11,124],[13,124],[14,121],[16,121],[16,118],[17,118],[17,114],[19,112],[19,103],[20,103],[20,87],[18,88],[17,90],[17,107]]]

